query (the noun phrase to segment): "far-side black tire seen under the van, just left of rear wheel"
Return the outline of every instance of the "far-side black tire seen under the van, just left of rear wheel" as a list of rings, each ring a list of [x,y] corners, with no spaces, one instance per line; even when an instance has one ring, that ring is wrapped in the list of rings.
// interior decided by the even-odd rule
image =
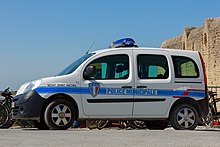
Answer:
[[[167,128],[168,123],[163,120],[145,121],[149,130],[164,130]]]

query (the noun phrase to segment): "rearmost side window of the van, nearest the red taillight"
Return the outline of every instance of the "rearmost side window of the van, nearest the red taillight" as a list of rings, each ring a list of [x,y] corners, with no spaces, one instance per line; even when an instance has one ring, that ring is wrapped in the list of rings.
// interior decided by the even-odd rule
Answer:
[[[175,78],[198,78],[199,69],[196,62],[183,56],[172,56]]]

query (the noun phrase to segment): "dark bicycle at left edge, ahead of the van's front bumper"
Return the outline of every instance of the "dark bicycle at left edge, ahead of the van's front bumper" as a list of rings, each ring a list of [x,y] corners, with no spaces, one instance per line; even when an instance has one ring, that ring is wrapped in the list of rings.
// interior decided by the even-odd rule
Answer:
[[[12,120],[12,93],[9,91],[9,87],[5,89],[1,95],[4,99],[0,100],[0,128],[10,128],[14,124]]]

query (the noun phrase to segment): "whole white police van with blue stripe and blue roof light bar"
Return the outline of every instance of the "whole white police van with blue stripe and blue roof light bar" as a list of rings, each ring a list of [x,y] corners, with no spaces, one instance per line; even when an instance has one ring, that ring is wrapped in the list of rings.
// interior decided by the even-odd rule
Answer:
[[[56,76],[23,84],[13,102],[13,118],[33,120],[39,129],[109,119],[193,130],[207,113],[199,52],[138,48],[130,38],[85,54]]]

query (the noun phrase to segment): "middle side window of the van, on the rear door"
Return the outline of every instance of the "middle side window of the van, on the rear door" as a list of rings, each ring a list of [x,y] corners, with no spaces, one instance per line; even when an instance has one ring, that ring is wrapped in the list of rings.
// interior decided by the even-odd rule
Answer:
[[[163,55],[138,55],[138,77],[140,79],[166,79],[169,70]]]

